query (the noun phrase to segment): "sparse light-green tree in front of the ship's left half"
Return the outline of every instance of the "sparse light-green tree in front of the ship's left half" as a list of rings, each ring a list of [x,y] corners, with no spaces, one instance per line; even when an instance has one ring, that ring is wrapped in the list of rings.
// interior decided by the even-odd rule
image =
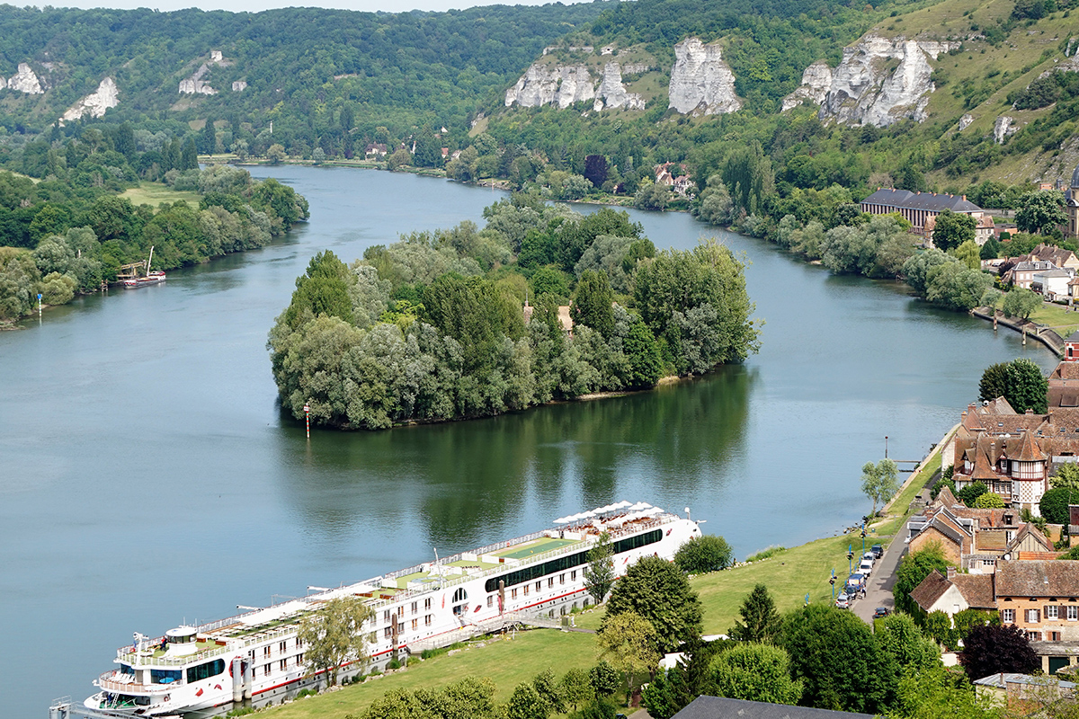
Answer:
[[[364,622],[373,617],[361,597],[338,597],[300,620],[297,636],[304,644],[304,661],[326,670],[328,686],[337,685],[338,668],[344,662],[367,661]]]

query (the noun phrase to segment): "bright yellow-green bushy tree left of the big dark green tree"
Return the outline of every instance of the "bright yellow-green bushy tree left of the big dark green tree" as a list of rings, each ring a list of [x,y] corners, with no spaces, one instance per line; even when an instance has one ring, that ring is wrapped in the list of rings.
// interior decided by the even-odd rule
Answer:
[[[804,682],[791,679],[791,658],[780,647],[748,644],[712,660],[720,696],[768,704],[797,704]]]

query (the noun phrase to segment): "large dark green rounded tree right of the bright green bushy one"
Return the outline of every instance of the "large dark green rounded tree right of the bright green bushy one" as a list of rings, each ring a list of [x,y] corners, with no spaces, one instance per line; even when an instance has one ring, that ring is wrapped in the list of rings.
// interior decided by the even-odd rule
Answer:
[[[803,704],[866,714],[888,706],[896,663],[852,613],[824,605],[795,610],[783,621],[780,646],[791,676],[805,683]]]

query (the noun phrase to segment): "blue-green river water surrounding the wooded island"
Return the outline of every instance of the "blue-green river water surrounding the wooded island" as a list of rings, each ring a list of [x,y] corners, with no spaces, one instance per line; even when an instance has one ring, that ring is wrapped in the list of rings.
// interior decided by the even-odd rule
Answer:
[[[548,526],[619,499],[708,521],[738,557],[870,509],[860,468],[918,459],[982,370],[1040,345],[833,277],[683,213],[630,212],[657,247],[714,235],[751,262],[761,352],[626,398],[379,433],[282,416],[265,350],[311,255],[472,219],[501,195],[341,168],[257,168],[312,220],[167,284],[0,333],[0,716],[81,701],[133,632],[160,636]],[[592,211],[589,206],[581,211]],[[824,578],[820,578],[824,581]],[[276,595],[276,596],[275,596]]]

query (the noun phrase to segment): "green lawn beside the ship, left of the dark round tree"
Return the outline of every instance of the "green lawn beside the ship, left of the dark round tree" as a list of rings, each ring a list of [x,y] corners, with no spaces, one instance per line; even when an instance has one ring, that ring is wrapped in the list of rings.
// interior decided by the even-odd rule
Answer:
[[[579,632],[532,630],[518,632],[514,639],[487,641],[456,654],[441,654],[382,679],[368,679],[341,691],[292,702],[272,710],[274,719],[334,719],[346,714],[359,716],[391,689],[414,690],[443,687],[468,675],[490,677],[495,701],[505,704],[514,688],[544,669],[562,675],[571,667],[596,664],[596,636]]]

